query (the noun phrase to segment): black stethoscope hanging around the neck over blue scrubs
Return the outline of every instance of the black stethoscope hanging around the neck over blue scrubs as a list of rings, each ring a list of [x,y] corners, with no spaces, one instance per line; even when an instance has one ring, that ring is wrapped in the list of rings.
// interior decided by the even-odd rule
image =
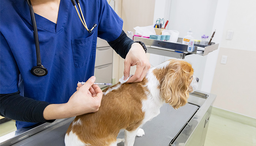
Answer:
[[[75,9],[76,9],[76,12],[79,16],[79,19],[80,21],[82,22],[84,28],[89,32],[91,33],[91,31],[97,26],[97,24],[94,24],[93,25],[93,28],[91,28],[90,30],[88,29],[87,25],[86,25],[86,22],[84,20],[84,17],[83,17],[83,12],[82,12],[82,9],[80,7],[80,2],[79,0],[76,0],[76,3],[78,4],[78,7],[79,7],[79,11],[80,11],[80,14],[82,15],[82,18],[78,12],[78,9],[76,7],[76,3],[75,3],[75,0],[71,0],[72,1],[72,4],[74,5]],[[36,53],[37,53],[37,66],[34,66],[32,69],[31,69],[31,73],[34,75],[34,76],[38,76],[38,77],[42,77],[42,76],[46,76],[46,74],[48,74],[48,70],[42,65],[41,63],[41,55],[40,55],[40,47],[39,47],[39,39],[38,39],[38,32],[37,32],[37,23],[35,22],[35,14],[34,14],[34,10],[33,10],[33,7],[32,7],[32,4],[31,4],[31,1],[30,0],[27,0],[27,4],[29,4],[29,8],[30,8],[30,15],[31,15],[31,19],[32,19],[32,23],[33,23],[33,28],[34,28],[34,38],[35,38],[35,50],[36,50]]]

